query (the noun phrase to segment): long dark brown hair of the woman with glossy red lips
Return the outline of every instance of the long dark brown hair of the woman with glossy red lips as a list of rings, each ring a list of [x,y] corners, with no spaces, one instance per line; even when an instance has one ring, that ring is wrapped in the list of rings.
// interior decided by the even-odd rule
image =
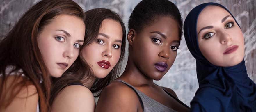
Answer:
[[[85,83],[88,81],[87,79],[90,79],[91,77],[94,77],[93,72],[90,68],[90,66],[86,63],[86,60],[84,60],[81,56],[81,50],[83,47],[86,47],[87,45],[95,42],[97,39],[97,36],[99,35],[99,29],[101,27],[102,21],[104,19],[113,19],[117,22],[119,22],[122,26],[122,46],[121,46],[121,55],[118,60],[118,63],[115,65],[115,67],[111,70],[111,72],[102,79],[96,78],[95,82],[93,83],[93,86],[90,88],[91,92],[94,93],[95,97],[98,97],[102,91],[102,89],[107,86],[111,81],[116,79],[121,70],[122,60],[124,58],[125,54],[125,37],[126,37],[126,29],[125,24],[122,21],[121,17],[105,8],[95,8],[91,9],[85,12],[86,14],[86,20],[85,20],[85,39],[84,44],[80,48],[79,57],[77,60],[73,63],[73,65],[61,76],[60,78],[56,78],[54,82],[54,87],[52,91],[52,96],[50,99],[50,104],[53,103],[54,98],[58,95],[58,93],[68,86],[70,83],[74,82],[80,82]]]

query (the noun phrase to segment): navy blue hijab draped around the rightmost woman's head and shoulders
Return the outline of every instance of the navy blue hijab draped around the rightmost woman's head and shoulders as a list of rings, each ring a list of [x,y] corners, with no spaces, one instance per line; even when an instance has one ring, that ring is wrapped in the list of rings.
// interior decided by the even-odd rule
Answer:
[[[215,66],[202,55],[198,47],[197,19],[208,5],[217,5],[227,10],[218,3],[204,3],[193,8],[184,22],[184,36],[189,51],[196,59],[199,83],[191,101],[191,111],[256,112],[256,84],[248,77],[245,61],[231,67]]]

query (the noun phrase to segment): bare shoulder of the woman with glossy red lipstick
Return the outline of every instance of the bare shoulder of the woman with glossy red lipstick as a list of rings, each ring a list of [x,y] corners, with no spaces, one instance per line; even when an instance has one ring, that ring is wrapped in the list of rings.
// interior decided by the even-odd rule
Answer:
[[[61,90],[51,108],[53,112],[93,112],[95,100],[88,88],[81,85],[70,85]]]

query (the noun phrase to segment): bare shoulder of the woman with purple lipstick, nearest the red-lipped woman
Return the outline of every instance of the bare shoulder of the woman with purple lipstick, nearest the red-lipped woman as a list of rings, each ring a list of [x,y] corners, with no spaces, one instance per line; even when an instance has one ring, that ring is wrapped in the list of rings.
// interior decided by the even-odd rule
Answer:
[[[137,111],[140,107],[137,94],[120,81],[113,81],[102,91],[96,112]]]

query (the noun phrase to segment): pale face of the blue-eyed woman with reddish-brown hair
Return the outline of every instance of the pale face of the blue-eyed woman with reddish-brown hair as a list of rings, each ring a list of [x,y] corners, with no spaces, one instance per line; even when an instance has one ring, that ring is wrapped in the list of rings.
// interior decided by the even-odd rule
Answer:
[[[77,59],[84,34],[83,20],[71,15],[58,15],[39,33],[38,47],[52,77],[61,77]]]

